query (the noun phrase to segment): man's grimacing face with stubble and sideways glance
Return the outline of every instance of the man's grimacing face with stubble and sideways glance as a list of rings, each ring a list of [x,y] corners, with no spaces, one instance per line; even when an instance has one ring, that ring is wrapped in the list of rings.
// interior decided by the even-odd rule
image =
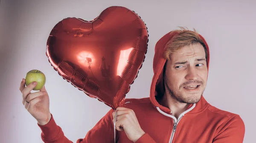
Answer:
[[[197,103],[207,83],[204,47],[193,44],[180,48],[167,60],[164,75],[166,92],[180,103]]]

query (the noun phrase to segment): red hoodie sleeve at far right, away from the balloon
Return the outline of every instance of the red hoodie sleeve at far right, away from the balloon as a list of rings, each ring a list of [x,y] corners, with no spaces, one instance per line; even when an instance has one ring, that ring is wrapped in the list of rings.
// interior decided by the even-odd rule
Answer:
[[[243,143],[244,132],[244,122],[236,115],[215,135],[212,143]]]

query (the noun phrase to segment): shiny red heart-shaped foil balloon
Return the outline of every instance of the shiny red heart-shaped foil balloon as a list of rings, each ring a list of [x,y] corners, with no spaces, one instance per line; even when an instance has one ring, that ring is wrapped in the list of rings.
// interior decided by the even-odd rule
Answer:
[[[46,55],[63,79],[116,109],[137,78],[147,43],[143,20],[128,8],[111,6],[92,21],[68,17],[58,22]]]

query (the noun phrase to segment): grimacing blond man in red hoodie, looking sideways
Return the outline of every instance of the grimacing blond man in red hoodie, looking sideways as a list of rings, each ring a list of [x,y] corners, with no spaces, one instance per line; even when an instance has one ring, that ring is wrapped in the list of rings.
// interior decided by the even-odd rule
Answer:
[[[208,77],[209,47],[201,35],[185,28],[164,35],[155,46],[153,69],[149,98],[125,99],[124,107],[111,109],[76,143],[243,142],[245,127],[240,116],[213,107],[202,96]],[[30,93],[36,84],[25,87],[24,83],[20,86],[23,104],[37,119],[42,140],[72,143],[49,112],[45,87]]]

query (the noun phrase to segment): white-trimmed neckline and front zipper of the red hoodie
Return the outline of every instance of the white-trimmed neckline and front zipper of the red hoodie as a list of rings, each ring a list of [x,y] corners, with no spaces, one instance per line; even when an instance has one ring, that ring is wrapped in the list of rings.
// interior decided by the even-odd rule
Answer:
[[[171,134],[169,143],[172,143],[174,134],[175,134],[175,132],[176,132],[176,130],[177,130],[177,125],[178,125],[178,123],[180,122],[181,118],[182,118],[187,112],[191,111],[191,110],[194,109],[194,108],[195,108],[195,104],[193,104],[193,106],[190,107],[189,109],[187,109],[185,112],[181,113],[180,116],[179,116],[179,118],[178,118],[178,120],[177,120],[177,118],[176,118],[175,116],[170,115],[170,114],[167,114],[166,112],[163,112],[159,107],[157,107],[157,110],[158,110],[161,114],[163,114],[163,115],[165,115],[165,116],[167,116],[167,117],[172,118],[173,121],[174,121],[173,128],[172,128],[172,134]]]

